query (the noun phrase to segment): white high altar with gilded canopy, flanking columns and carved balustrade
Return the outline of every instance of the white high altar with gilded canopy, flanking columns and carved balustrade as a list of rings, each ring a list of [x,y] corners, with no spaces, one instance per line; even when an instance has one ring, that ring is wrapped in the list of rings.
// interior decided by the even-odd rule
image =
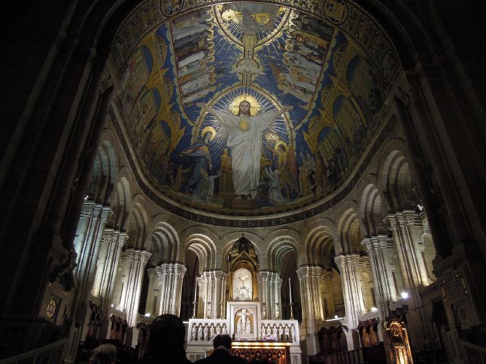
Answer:
[[[198,278],[199,296],[187,330],[190,361],[205,357],[212,350],[211,338],[223,333],[233,338],[233,354],[247,361],[301,363],[299,324],[293,318],[281,320],[277,297],[282,281],[268,276],[258,270],[255,248],[242,236],[229,254],[228,273]]]

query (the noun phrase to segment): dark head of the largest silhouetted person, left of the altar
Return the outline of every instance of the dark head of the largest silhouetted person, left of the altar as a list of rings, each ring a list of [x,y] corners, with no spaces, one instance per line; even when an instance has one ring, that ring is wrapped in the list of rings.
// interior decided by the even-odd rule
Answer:
[[[184,324],[176,315],[166,313],[156,317],[150,325],[149,333],[149,345],[165,341],[184,345]]]

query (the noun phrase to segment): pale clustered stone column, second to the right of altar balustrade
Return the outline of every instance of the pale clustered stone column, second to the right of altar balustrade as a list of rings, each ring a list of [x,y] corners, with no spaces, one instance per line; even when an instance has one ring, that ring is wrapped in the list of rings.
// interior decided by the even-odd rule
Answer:
[[[354,350],[360,347],[360,340],[356,328],[358,316],[364,313],[362,293],[357,278],[356,266],[360,261],[359,254],[340,254],[334,258],[341,272],[342,292],[344,295],[344,322],[349,331],[346,333],[348,349]]]

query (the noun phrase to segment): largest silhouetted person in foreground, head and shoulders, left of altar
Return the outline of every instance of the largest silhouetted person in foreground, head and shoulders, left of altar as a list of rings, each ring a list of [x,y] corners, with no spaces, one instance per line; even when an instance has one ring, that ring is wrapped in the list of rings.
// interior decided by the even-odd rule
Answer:
[[[160,315],[149,328],[146,353],[138,364],[192,364],[185,356],[184,324],[176,315]]]

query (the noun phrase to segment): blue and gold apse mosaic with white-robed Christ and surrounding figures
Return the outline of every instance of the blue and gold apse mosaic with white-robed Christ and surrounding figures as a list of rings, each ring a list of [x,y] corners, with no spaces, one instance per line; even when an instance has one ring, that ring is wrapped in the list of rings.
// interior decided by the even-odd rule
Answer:
[[[121,41],[112,51],[119,114],[153,187],[221,214],[338,189],[380,128],[394,53],[377,65],[336,25],[344,1],[326,1],[329,21],[267,3],[171,4],[129,55]]]

